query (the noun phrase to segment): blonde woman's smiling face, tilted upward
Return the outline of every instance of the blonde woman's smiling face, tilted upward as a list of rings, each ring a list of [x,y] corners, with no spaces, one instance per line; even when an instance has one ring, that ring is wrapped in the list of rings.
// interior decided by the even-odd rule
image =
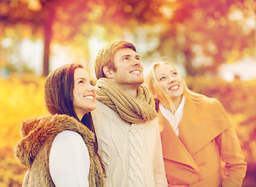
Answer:
[[[172,65],[163,64],[155,67],[155,77],[173,102],[181,101],[184,90],[183,78]]]

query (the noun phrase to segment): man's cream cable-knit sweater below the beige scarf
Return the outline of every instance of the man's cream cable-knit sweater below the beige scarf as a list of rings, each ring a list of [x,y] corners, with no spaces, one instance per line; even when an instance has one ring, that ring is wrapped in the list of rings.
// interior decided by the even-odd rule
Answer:
[[[107,186],[167,186],[157,118],[131,124],[100,101],[92,111]]]

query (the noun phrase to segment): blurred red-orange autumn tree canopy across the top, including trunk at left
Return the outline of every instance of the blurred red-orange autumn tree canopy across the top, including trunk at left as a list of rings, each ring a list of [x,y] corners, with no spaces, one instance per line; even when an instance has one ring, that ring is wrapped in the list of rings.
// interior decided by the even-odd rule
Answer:
[[[234,9],[250,17],[247,10],[255,7],[252,0],[38,0],[36,10],[29,9],[29,0],[25,2],[3,0],[0,23],[25,23],[34,33],[44,30],[40,31],[44,37],[44,76],[48,75],[51,41],[80,46],[89,61],[88,41],[95,33],[105,41],[123,39],[127,31],[138,42],[141,37],[153,41],[154,48],[145,46],[146,56],[158,54],[183,62],[189,75],[216,72],[233,51],[250,54],[254,46],[250,40],[253,30],[245,32],[229,19]],[[244,53],[236,52],[234,59]]]

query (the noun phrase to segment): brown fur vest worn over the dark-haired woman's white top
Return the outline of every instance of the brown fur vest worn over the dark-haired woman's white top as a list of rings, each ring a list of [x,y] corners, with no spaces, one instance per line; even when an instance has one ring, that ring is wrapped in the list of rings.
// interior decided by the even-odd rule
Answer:
[[[90,186],[105,186],[101,162],[94,151],[94,133],[68,115],[48,115],[23,121],[22,139],[14,147],[16,157],[29,167],[23,186],[55,186],[49,172],[49,153],[55,136],[64,130],[77,132],[84,139],[90,155]],[[87,177],[87,176],[84,176]]]

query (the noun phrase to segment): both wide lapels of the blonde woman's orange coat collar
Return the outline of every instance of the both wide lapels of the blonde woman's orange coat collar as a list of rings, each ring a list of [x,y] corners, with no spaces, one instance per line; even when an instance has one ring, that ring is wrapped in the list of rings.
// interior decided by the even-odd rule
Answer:
[[[165,159],[190,165],[199,170],[193,160],[195,153],[200,151],[212,139],[229,128],[229,118],[223,111],[219,101],[185,101],[183,118],[180,121],[179,137],[176,136],[169,122],[158,112],[163,156]]]

